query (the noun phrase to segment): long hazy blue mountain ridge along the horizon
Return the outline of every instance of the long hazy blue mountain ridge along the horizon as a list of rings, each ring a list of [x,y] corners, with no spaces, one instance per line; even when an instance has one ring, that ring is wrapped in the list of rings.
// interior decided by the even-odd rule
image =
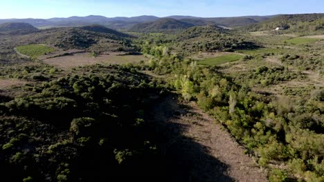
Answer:
[[[226,27],[235,26],[247,26],[253,23],[259,23],[260,21],[267,20],[271,16],[247,16],[247,17],[226,17],[226,18],[201,18],[201,17],[191,17],[191,16],[170,16],[165,18],[171,19],[192,19],[192,20],[204,20],[213,21],[217,25],[222,25]],[[75,27],[75,26],[87,26],[91,24],[99,24],[102,26],[108,26],[114,29],[127,29],[134,26],[136,23],[148,23],[156,21],[158,19],[164,19],[161,17],[154,16],[139,16],[139,17],[113,17],[107,18],[98,15],[90,15],[87,17],[68,17],[68,18],[52,18],[52,19],[0,19],[0,23],[8,22],[23,22],[30,23],[30,25],[37,28],[48,28],[48,27]]]

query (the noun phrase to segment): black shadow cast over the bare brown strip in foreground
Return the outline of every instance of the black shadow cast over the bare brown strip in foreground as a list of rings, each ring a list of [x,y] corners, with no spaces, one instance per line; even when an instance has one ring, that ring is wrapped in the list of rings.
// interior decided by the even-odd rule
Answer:
[[[228,165],[208,154],[208,148],[194,139],[183,136],[187,130],[181,116],[199,114],[190,112],[188,105],[179,105],[176,95],[168,95],[152,111],[152,122],[159,125],[161,152],[165,157],[166,181],[234,181],[226,175]],[[190,124],[190,123],[188,123]]]

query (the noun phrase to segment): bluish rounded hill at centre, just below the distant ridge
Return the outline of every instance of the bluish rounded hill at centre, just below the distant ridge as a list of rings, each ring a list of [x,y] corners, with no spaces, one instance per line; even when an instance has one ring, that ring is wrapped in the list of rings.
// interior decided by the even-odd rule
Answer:
[[[150,23],[138,23],[134,27],[130,28],[130,32],[165,32],[175,30],[186,30],[190,27],[195,26],[192,23],[179,21],[177,19],[158,19]]]

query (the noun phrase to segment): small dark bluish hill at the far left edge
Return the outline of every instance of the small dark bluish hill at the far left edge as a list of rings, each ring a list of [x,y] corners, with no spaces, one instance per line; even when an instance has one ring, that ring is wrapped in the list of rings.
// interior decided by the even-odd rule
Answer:
[[[3,34],[30,34],[39,31],[28,23],[3,23],[0,24],[0,32]]]

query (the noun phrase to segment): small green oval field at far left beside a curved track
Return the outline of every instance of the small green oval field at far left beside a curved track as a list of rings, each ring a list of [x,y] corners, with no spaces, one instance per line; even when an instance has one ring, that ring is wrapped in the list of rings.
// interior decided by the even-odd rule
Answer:
[[[16,49],[20,54],[35,58],[55,51],[54,48],[39,44],[21,45]]]

